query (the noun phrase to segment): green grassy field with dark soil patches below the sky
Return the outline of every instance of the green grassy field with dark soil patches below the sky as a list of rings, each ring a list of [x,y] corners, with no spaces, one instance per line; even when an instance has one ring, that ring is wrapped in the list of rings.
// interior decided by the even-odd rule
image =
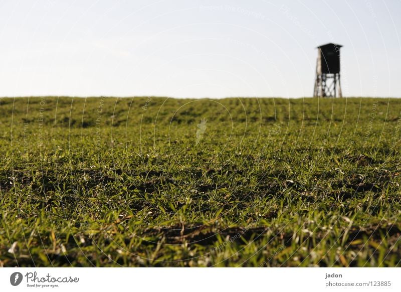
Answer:
[[[0,110],[0,265],[401,266],[401,99]]]

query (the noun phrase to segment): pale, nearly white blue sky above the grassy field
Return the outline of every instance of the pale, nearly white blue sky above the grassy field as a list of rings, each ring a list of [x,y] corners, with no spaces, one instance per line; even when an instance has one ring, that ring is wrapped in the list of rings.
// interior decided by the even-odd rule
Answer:
[[[0,96],[401,97],[401,1],[2,1]]]

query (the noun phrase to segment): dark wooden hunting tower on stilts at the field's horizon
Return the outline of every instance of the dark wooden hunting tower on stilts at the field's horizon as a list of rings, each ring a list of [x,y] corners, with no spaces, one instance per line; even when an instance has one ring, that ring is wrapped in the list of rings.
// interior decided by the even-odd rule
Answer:
[[[317,47],[316,79],[313,96],[342,97],[340,85],[341,45],[326,44]]]

